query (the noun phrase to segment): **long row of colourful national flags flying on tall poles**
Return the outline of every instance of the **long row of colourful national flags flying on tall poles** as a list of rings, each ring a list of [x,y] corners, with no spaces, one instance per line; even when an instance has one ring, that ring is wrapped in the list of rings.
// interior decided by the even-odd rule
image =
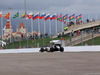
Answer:
[[[5,15],[5,18],[8,18],[9,16],[10,16],[10,12]],[[2,12],[0,12],[0,17],[2,17]],[[13,16],[14,19],[17,18],[17,17],[19,17],[19,12],[17,12]],[[64,16],[62,14],[60,14],[59,16],[57,14],[54,14],[54,15],[50,16],[50,14],[46,15],[46,13],[43,13],[42,15],[40,15],[40,13],[37,13],[36,15],[34,15],[33,13],[29,13],[25,16],[25,13],[24,13],[23,15],[21,15],[21,19],[25,18],[25,17],[26,17],[26,19],[31,19],[32,18],[33,20],[35,20],[35,19],[44,19],[46,21],[48,19],[50,19],[50,20],[54,19],[54,20],[57,20],[57,21],[59,20],[61,22],[62,21],[65,22],[66,19],[69,19],[69,21],[71,21],[73,19],[80,20],[80,19],[82,19],[82,14],[80,14],[78,16],[75,16],[75,14],[73,14],[71,16],[68,16],[68,14],[66,14]]]

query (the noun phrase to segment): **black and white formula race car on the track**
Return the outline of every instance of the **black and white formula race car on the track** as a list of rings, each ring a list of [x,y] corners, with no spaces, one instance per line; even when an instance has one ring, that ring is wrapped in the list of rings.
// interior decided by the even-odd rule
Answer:
[[[50,47],[42,47],[40,49],[40,52],[54,52],[54,51],[60,51],[60,52],[63,52],[64,51],[64,48],[61,46],[61,41],[60,40],[53,40],[53,41],[50,41],[51,43],[51,46]]]

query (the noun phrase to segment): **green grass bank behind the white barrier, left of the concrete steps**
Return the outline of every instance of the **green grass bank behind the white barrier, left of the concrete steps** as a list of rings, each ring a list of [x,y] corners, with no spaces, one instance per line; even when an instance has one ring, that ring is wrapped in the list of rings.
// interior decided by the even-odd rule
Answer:
[[[65,40],[69,39],[69,36],[65,36],[63,37]],[[51,40],[61,40],[61,37],[59,38],[44,38],[44,45],[50,45],[50,41]],[[7,49],[16,49],[20,47],[20,43],[21,43],[21,47],[22,48],[27,48],[27,40],[23,40],[23,41],[17,41],[17,42],[12,42],[7,44]],[[39,47],[43,47],[43,39],[36,39],[36,45],[37,43],[39,43]],[[28,47],[35,47],[35,40],[31,39],[28,40]],[[4,47],[6,49],[6,46]]]

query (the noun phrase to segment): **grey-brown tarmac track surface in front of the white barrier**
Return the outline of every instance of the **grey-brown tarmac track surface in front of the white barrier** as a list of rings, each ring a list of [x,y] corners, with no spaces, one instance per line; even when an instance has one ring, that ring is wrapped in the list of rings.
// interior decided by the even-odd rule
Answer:
[[[100,52],[0,54],[0,75],[100,75]]]

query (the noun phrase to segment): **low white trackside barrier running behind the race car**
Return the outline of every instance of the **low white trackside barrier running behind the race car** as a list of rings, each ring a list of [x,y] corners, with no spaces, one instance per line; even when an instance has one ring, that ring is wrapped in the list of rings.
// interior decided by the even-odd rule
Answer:
[[[4,49],[0,53],[33,53],[39,52],[40,48],[26,49]],[[100,51],[100,46],[69,46],[64,47],[64,52],[97,52]]]

